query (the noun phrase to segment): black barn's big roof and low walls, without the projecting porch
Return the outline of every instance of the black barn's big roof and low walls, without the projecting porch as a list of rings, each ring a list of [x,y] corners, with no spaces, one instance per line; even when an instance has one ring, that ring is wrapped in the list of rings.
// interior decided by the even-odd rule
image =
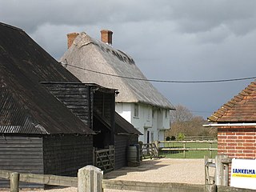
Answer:
[[[71,176],[92,164],[94,131],[40,83],[78,79],[23,30],[3,23],[0,53],[0,169]]]

